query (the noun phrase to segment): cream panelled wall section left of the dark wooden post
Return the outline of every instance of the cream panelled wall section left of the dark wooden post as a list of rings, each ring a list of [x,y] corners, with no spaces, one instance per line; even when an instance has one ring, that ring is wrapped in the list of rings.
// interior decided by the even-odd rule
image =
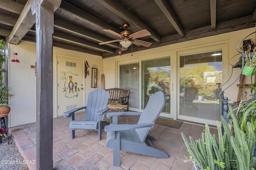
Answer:
[[[21,41],[16,46],[20,63],[10,62],[14,59],[15,46],[9,45],[9,86],[11,111],[9,126],[24,125],[36,121],[36,76],[30,68],[36,62],[36,44]]]

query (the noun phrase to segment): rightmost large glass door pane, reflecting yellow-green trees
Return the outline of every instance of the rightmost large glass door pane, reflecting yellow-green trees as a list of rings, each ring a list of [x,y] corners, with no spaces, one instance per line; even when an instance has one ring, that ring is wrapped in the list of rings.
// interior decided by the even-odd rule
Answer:
[[[222,49],[179,55],[179,115],[220,121]],[[202,122],[205,123],[205,122]]]

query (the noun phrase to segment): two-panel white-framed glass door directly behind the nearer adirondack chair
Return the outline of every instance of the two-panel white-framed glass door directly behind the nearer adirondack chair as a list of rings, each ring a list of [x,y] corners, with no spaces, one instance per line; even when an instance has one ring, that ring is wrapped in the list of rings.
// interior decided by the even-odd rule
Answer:
[[[172,102],[174,98],[173,88],[175,87],[174,83],[171,83],[174,72],[170,74],[172,63],[170,56],[174,54],[173,52],[165,51],[157,54],[138,56],[134,59],[120,59],[116,61],[116,86],[130,89],[129,110],[143,111],[147,104],[146,98],[150,96],[148,83],[151,81],[156,86],[159,85],[159,89],[166,96],[166,105],[160,116],[175,118],[173,117],[173,109],[176,108],[174,106],[176,102]],[[158,76],[159,72],[154,72],[154,70],[160,71],[160,77]],[[155,80],[147,76],[154,73],[156,74],[152,78],[155,78]]]

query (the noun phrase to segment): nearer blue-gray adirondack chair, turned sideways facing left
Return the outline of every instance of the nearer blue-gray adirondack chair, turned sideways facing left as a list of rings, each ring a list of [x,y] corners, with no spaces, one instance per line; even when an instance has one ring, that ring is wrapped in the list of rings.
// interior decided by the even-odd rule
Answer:
[[[150,96],[148,104],[142,112],[107,113],[107,117],[113,119],[113,124],[104,128],[107,132],[106,147],[113,149],[114,166],[120,166],[120,150],[158,158],[169,158],[168,154],[154,148],[151,143],[154,138],[148,136],[148,132],[154,127],[154,121],[162,111],[164,104],[164,93],[159,91]],[[120,115],[140,115],[140,119],[135,125],[118,125],[117,116]]]

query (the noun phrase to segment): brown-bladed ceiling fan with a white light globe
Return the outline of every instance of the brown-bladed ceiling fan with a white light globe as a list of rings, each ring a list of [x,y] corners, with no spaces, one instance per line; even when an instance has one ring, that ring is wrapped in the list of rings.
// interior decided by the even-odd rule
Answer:
[[[115,31],[112,31],[110,29],[103,29],[103,31],[106,31],[107,33],[115,35],[115,36],[119,37],[120,39],[102,42],[102,43],[99,43],[99,45],[119,42],[122,45],[122,51],[125,51],[125,50],[128,49],[128,47],[130,47],[131,44],[141,45],[141,46],[144,46],[144,47],[149,47],[152,44],[152,43],[147,42],[147,41],[142,41],[142,40],[136,39],[136,38],[141,38],[141,37],[146,37],[148,35],[151,35],[148,30],[143,29],[143,30],[138,31],[136,33],[131,33],[130,31],[127,31],[129,26],[130,26],[129,24],[125,23],[123,25],[123,28],[125,29],[125,31],[120,32],[120,34],[116,33]]]

